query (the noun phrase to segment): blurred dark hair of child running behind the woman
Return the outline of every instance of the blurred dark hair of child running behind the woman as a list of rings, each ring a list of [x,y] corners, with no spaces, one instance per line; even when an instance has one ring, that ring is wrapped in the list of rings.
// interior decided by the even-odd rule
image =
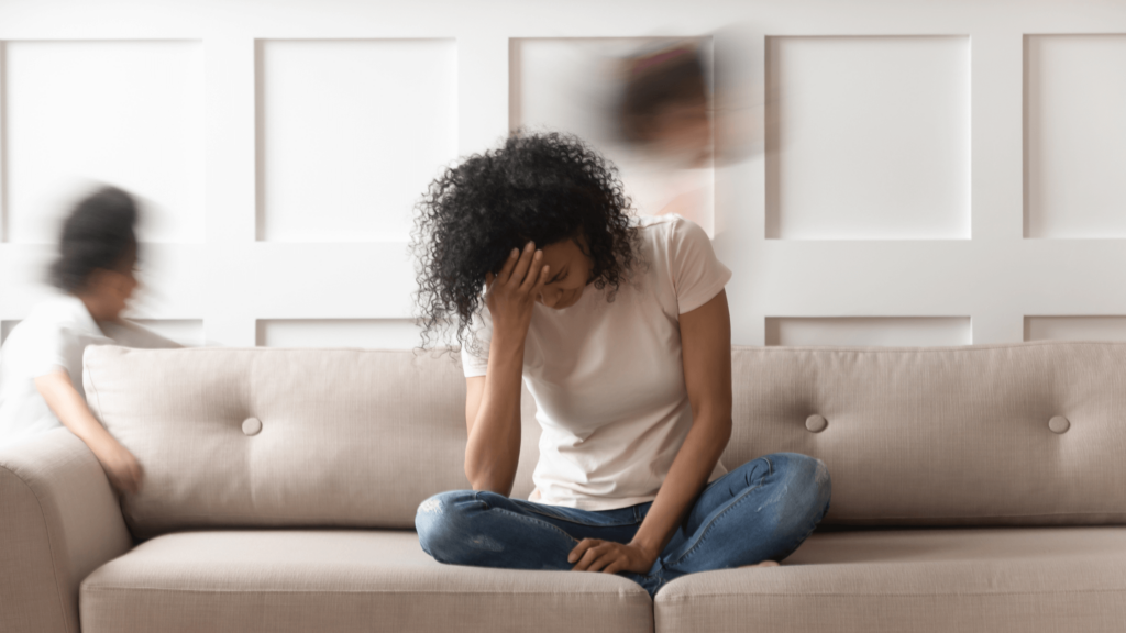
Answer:
[[[628,143],[653,141],[653,123],[670,105],[706,104],[707,81],[696,45],[681,43],[625,60],[618,107],[620,135]]]

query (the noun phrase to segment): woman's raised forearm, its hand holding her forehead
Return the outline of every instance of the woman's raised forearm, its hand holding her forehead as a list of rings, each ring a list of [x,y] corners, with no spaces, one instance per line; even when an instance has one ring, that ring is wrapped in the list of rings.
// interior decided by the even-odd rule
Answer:
[[[515,339],[516,337],[511,337]],[[489,347],[484,393],[465,446],[465,475],[474,490],[508,496],[520,461],[520,381],[524,339],[497,332]]]

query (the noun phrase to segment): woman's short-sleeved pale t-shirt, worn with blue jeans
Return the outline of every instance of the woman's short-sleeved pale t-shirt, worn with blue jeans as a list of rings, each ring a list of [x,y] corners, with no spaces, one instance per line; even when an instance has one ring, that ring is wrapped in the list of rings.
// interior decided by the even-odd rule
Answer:
[[[635,222],[643,264],[614,302],[591,285],[570,307],[535,305],[524,354],[543,427],[535,501],[587,510],[652,501],[691,427],[679,316],[720,294],[731,270],[683,217]],[[489,309],[474,321],[483,356],[463,348],[462,364],[483,376]],[[725,473],[717,463],[708,481]]]

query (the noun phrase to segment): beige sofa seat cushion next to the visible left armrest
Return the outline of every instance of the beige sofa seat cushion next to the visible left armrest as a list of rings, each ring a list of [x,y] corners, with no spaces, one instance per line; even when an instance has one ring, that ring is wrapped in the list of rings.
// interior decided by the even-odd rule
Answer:
[[[413,532],[186,532],[82,582],[83,633],[149,631],[651,632],[617,576],[445,565]]]

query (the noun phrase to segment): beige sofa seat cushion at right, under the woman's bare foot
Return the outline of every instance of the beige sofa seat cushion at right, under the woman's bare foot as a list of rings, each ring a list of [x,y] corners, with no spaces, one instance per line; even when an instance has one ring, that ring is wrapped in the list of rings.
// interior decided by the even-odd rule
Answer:
[[[656,595],[658,633],[1121,631],[1126,527],[817,533]]]

